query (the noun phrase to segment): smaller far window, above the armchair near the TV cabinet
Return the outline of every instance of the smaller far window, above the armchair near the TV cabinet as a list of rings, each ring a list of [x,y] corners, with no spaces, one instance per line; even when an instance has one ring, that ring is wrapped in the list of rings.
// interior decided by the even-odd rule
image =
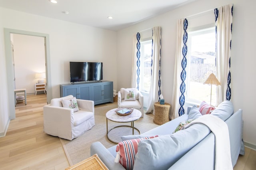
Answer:
[[[152,40],[140,43],[140,91],[149,92],[151,83]]]

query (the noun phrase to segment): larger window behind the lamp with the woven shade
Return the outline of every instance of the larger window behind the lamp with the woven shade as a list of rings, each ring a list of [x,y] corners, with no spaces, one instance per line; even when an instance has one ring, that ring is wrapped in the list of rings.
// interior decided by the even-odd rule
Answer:
[[[211,86],[204,81],[216,75],[215,28],[188,32],[186,102],[210,103]],[[212,105],[216,105],[216,86],[212,85]]]

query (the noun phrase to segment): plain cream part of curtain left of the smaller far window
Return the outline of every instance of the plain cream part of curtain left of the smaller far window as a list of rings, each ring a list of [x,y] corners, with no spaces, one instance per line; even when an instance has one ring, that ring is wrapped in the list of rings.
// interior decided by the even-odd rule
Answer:
[[[133,35],[133,51],[132,51],[132,81],[131,87],[137,88],[137,33]]]

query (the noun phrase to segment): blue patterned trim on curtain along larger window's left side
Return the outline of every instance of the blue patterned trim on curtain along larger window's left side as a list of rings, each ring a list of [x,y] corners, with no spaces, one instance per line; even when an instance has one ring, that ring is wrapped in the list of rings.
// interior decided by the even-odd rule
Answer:
[[[181,67],[182,67],[182,71],[180,73],[180,79],[181,79],[181,84],[180,84],[180,99],[179,99],[179,103],[180,103],[180,109],[179,109],[179,116],[184,115],[185,111],[184,111],[184,104],[185,104],[185,91],[186,91],[186,84],[185,84],[185,80],[186,80],[186,66],[187,66],[187,52],[188,52],[188,46],[187,46],[187,42],[188,42],[188,32],[187,32],[187,28],[188,28],[188,20],[185,19],[184,23],[183,23],[183,29],[184,29],[184,34],[183,34],[183,47],[182,47],[182,63],[181,63]]]

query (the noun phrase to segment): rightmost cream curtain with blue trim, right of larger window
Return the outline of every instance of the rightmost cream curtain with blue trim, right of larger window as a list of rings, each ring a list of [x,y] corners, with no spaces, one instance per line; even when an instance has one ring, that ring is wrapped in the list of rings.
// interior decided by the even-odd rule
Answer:
[[[231,99],[231,37],[233,4],[221,6],[214,10],[216,25],[216,77],[220,81],[217,86],[217,104]]]

